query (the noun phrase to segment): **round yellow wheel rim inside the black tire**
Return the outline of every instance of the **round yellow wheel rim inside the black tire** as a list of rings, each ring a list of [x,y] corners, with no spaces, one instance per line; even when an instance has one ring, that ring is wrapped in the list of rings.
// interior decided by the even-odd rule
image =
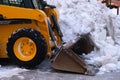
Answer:
[[[14,44],[14,54],[21,61],[32,60],[37,52],[35,42],[27,37],[22,37],[16,40]]]

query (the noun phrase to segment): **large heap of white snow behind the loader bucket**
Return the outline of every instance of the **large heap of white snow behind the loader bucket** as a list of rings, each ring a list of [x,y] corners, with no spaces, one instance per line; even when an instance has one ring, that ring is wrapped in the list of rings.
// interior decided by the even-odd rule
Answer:
[[[99,73],[120,71],[120,16],[112,14],[97,0],[47,0],[55,4],[60,14],[64,41],[78,34],[90,33],[97,46],[85,55],[87,62],[99,68]]]

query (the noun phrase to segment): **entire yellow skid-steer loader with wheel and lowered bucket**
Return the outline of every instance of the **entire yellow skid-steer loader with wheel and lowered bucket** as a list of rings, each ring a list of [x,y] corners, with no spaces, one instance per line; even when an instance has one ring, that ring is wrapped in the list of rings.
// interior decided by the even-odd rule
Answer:
[[[64,43],[55,8],[44,0],[0,0],[0,58],[32,68],[48,55],[54,69],[93,75],[80,57],[93,50],[89,36]]]

